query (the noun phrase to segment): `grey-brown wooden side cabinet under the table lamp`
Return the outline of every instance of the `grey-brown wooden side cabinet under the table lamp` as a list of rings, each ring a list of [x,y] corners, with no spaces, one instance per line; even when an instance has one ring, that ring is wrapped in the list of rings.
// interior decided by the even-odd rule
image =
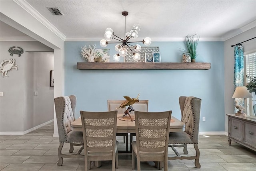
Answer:
[[[240,143],[256,151],[256,118],[251,116],[228,116],[228,143]]]

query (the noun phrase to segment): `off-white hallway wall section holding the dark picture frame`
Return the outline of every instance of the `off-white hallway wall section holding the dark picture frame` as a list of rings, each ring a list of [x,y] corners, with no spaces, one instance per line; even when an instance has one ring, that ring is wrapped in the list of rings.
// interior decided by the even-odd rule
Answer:
[[[27,58],[24,99],[24,131],[53,119],[53,93],[50,87],[50,70],[54,69],[52,52],[30,52]],[[34,91],[38,96],[34,96]],[[26,96],[25,96],[26,94]],[[25,100],[24,100],[25,101]]]

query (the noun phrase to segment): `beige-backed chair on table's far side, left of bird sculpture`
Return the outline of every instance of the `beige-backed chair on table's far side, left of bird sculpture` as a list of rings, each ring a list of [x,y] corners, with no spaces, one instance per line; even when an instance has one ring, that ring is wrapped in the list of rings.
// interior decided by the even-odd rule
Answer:
[[[108,111],[117,110],[117,113],[124,114],[125,108],[118,108],[120,104],[125,102],[125,100],[107,100],[108,102]],[[118,108],[118,109],[116,109]],[[123,136],[124,137],[124,143],[126,143],[126,152],[128,151],[128,133],[116,133],[116,136]]]

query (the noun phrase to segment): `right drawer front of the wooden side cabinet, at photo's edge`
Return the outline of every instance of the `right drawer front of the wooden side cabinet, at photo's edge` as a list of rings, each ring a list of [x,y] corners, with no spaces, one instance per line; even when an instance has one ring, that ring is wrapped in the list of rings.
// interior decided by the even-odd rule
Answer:
[[[256,148],[256,125],[244,121],[244,143]]]

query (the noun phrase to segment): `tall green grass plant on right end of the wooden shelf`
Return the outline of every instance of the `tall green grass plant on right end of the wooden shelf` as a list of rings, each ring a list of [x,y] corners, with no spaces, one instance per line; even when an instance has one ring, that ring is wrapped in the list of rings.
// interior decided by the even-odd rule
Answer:
[[[198,45],[200,37],[195,37],[195,35],[187,35],[186,36],[186,47],[187,47],[187,52],[190,53],[191,57],[191,62],[196,62],[196,57],[198,56],[198,53],[196,52],[196,48]]]

